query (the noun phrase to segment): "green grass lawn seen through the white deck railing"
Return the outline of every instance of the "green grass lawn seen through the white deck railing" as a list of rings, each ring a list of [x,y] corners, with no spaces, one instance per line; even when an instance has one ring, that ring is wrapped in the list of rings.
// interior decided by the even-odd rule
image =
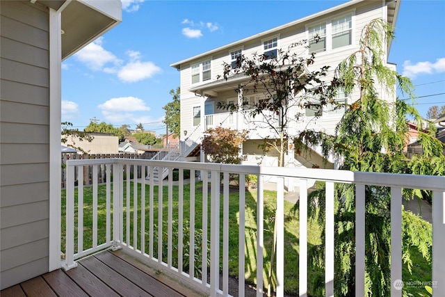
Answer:
[[[137,248],[140,249],[140,192],[141,192],[141,184],[138,184],[138,232],[137,232]],[[202,259],[202,213],[205,210],[202,199],[202,183],[197,183],[195,186],[195,275],[200,274],[200,268],[202,267],[201,259]],[[127,185],[124,183],[124,189],[127,188]],[[158,191],[159,187],[154,186],[154,203],[152,205],[154,209],[153,222],[154,222],[154,239],[153,246],[154,257],[159,257],[158,251],[158,208],[159,208],[159,198]],[[209,191],[210,192],[210,191]],[[92,187],[86,186],[83,188],[83,248],[92,247]],[[179,188],[178,186],[173,186],[172,189],[172,197],[174,198],[172,201],[172,234],[173,234],[173,265],[177,265],[177,246],[178,246],[178,213],[179,213]],[[76,219],[75,225],[77,230],[77,189],[75,190],[75,209],[76,209]],[[146,185],[145,189],[145,207],[143,207],[143,211],[145,211],[145,252],[149,253],[149,185]],[[62,247],[65,247],[65,190],[62,191]],[[97,197],[98,197],[98,244],[105,242],[106,236],[106,226],[105,226],[105,218],[106,218],[106,207],[105,207],[105,197],[106,197],[106,186],[100,185],[97,189]],[[129,234],[125,233],[127,229],[127,195],[124,194],[124,234],[123,239],[133,244],[133,182],[130,183],[130,192],[129,192],[129,219],[130,219],[130,232]],[[221,230],[221,239],[222,239],[222,230],[223,230],[223,195],[220,195],[220,230]],[[257,191],[251,190],[246,191],[245,193],[245,278],[246,282],[254,283],[256,282],[257,275],[257,267],[256,267],[256,243],[257,243],[257,223],[256,223],[256,209],[257,209]],[[238,193],[230,193],[229,194],[229,274],[233,276],[238,275],[238,247],[239,243],[239,231],[238,231],[238,218],[239,218],[239,203],[238,203]],[[270,251],[273,244],[273,225],[274,225],[274,217],[275,217],[275,200],[276,200],[276,192],[274,191],[264,191],[264,287],[268,286],[268,278],[267,274],[270,270]],[[183,270],[189,272],[189,262],[186,259],[185,255],[189,255],[189,230],[190,230],[190,184],[184,185],[184,262],[183,262]],[[111,201],[112,203],[112,201]],[[163,261],[167,262],[167,220],[168,220],[168,187],[163,187]],[[207,228],[208,228],[208,239],[210,238],[210,194],[207,199]],[[284,225],[284,288],[286,294],[289,295],[298,295],[298,239],[299,239],[299,223],[298,223],[298,211],[296,214],[291,213],[291,208],[293,204],[290,202],[284,202],[284,213],[285,213],[285,225]],[[112,227],[111,227],[111,230]],[[308,241],[308,250],[314,247],[323,248],[321,246],[321,227],[316,223],[316,221],[310,221],[308,223],[307,230],[307,241]],[[75,247],[74,250],[77,249],[77,231],[75,231]],[[208,245],[208,255],[207,258],[210,257],[210,246]],[[220,266],[222,267],[222,257],[223,252],[220,250]],[[413,270],[412,275],[407,272],[407,269],[403,270],[403,280],[430,280],[431,279],[431,263],[423,260],[421,255],[412,252],[413,257]],[[324,271],[316,271],[308,268],[309,271],[309,294],[311,291],[314,291],[312,286],[316,286],[316,283],[311,283],[310,280],[324,280]],[[429,271],[429,272],[427,272]],[[429,278],[428,278],[429,273]],[[275,273],[273,271],[273,275]],[[413,277],[413,275],[415,275]],[[273,278],[273,284],[275,284],[275,278]],[[324,282],[321,283],[324,286]],[[417,288],[410,289],[408,292],[416,294],[419,291]]]

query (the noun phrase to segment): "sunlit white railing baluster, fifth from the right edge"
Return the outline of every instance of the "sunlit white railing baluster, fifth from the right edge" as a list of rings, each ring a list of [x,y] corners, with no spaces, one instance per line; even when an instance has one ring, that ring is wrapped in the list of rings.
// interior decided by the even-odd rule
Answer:
[[[307,179],[300,179],[299,296],[307,296]]]

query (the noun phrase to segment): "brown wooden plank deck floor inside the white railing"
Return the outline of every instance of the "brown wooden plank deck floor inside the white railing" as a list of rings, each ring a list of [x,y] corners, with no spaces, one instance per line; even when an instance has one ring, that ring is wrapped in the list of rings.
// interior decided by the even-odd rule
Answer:
[[[58,269],[16,284],[0,296],[203,296],[122,250],[104,251],[78,264],[69,271]]]

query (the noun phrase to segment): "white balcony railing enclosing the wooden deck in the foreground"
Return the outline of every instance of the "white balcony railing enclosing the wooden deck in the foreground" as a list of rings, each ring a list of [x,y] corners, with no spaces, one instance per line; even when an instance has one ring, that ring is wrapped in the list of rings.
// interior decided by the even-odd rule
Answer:
[[[92,167],[92,187],[83,186],[79,174],[79,186],[75,187],[74,168],[81,172]],[[106,167],[106,185],[98,186],[98,166]],[[140,167],[140,168],[138,168]],[[159,179],[131,179],[130,168],[153,173],[155,167],[167,168],[168,181]],[[179,184],[173,191],[172,173],[179,168]],[[127,174],[124,178],[124,169]],[[190,170],[190,184],[184,184],[184,172]],[[197,182],[195,172],[202,171],[202,182]],[[229,176],[238,176],[239,184],[245,183],[247,175],[256,175],[256,197],[250,197],[245,186],[236,188],[236,204],[229,203]],[[432,283],[434,296],[445,296],[445,178],[420,175],[393,175],[373,172],[350,172],[296,168],[273,168],[264,166],[226,165],[218,163],[192,163],[150,161],[133,159],[99,159],[67,161],[66,190],[66,269],[76,266],[79,259],[104,248],[123,248],[145,259],[163,273],[169,273],[183,282],[207,291],[210,296],[231,296],[229,293],[229,246],[238,248],[238,255],[245,255],[246,245],[254,246],[257,267],[257,296],[263,296],[266,228],[264,207],[264,179],[277,178],[276,217],[276,294],[284,296],[284,180],[298,181],[299,208],[299,296],[307,296],[308,284],[308,182],[325,182],[325,291],[333,296],[334,291],[334,184],[355,184],[355,296],[364,296],[365,287],[365,186],[391,188],[391,284],[402,280],[402,188],[421,188],[432,191]],[[113,180],[111,179],[113,176]],[[201,184],[202,183],[202,184]],[[296,183],[297,184],[297,183]],[[186,191],[185,191],[186,189]],[[233,190],[233,189],[232,189]],[[83,225],[86,214],[86,191],[92,191],[92,233],[85,234]],[[202,192],[202,196],[198,195]],[[176,193],[176,194],[173,194]],[[189,201],[185,202],[184,197]],[[195,203],[200,196],[202,201]],[[254,200],[249,204],[248,199]],[[252,201],[250,201],[252,203]],[[76,209],[74,208],[76,205]],[[253,205],[253,209],[252,209]],[[275,208],[274,207],[274,208]],[[236,208],[236,218],[229,218],[229,209]],[[247,211],[250,209],[250,211]],[[141,211],[143,210],[143,211]],[[254,225],[246,225],[252,217]],[[200,219],[198,219],[200,218]],[[201,219],[202,218],[202,219]],[[202,228],[197,226],[201,225]],[[229,232],[236,229],[238,240]],[[254,242],[246,241],[246,232],[256,232]],[[76,241],[74,241],[76,235]],[[92,238],[88,246],[86,236]],[[181,240],[184,239],[184,240]],[[208,244],[209,243],[209,244]],[[241,243],[241,244],[239,244]],[[296,252],[296,250],[293,250]],[[210,255],[208,260],[207,255]],[[389,257],[389,255],[387,255]],[[232,263],[231,263],[232,264]],[[244,275],[252,263],[238,257],[238,296],[245,294]],[[354,268],[353,268],[354,269]],[[205,273],[209,271],[208,273]],[[204,272],[204,273],[200,273]],[[222,278],[220,282],[220,278]],[[391,296],[402,296],[400,287],[391,286]]]

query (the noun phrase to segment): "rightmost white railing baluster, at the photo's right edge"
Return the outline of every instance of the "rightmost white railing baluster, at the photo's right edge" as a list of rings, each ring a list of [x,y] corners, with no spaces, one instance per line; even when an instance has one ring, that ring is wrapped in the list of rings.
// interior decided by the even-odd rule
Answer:
[[[432,192],[432,295],[445,296],[445,191]]]

